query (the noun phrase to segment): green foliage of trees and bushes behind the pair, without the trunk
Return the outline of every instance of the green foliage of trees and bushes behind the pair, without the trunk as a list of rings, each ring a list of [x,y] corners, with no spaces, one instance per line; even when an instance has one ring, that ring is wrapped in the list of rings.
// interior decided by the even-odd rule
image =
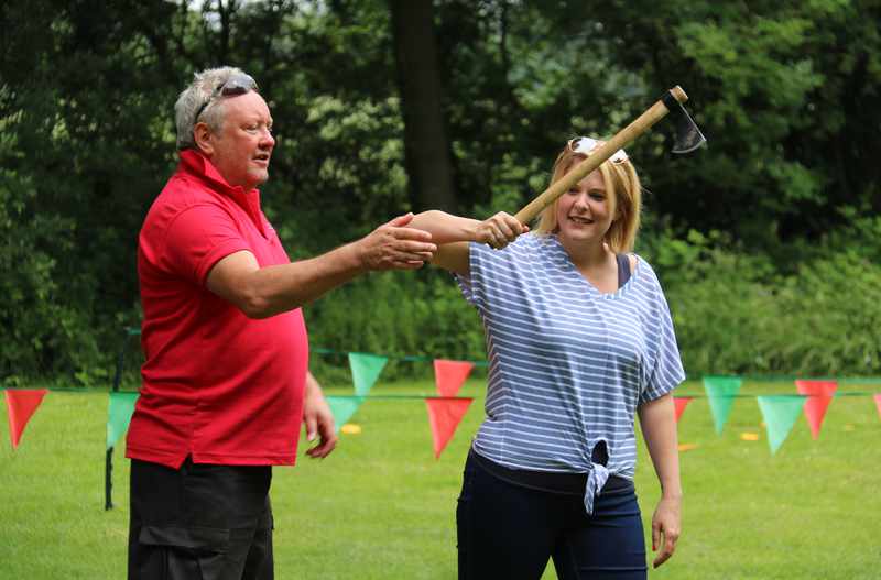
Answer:
[[[672,85],[708,149],[629,147],[639,252],[700,373],[877,374],[881,6],[872,0],[437,0],[458,204],[515,211],[575,134],[609,135]],[[105,384],[139,321],[137,236],[174,169],[172,106],[236,64],[271,101],[264,209],[292,258],[414,207],[389,8],[374,0],[0,7],[0,383]],[[482,357],[440,272],[362,278],[306,308],[341,351]],[[405,368],[391,369],[392,374]]]

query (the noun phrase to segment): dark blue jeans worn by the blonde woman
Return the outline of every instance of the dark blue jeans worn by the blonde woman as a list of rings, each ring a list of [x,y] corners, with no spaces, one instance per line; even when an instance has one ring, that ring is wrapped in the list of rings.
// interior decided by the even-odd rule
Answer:
[[[459,580],[537,580],[548,558],[561,580],[646,578],[632,485],[601,493],[587,515],[583,495],[510,483],[469,456],[456,524]]]

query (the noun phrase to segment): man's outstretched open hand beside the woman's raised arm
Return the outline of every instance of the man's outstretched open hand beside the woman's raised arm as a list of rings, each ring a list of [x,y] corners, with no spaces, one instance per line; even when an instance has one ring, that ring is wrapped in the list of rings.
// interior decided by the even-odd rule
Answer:
[[[413,214],[399,216],[355,242],[367,270],[416,270],[437,251],[427,231],[405,226]]]

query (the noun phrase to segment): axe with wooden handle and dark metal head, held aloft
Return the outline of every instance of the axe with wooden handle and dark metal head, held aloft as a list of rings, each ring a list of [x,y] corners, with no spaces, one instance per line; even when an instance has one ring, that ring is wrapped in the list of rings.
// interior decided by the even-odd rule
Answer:
[[[553,204],[564,191],[568,191],[572,186],[584,179],[590,172],[611,157],[616,151],[624,149],[632,143],[667,113],[672,112],[676,117],[676,138],[672,150],[673,153],[690,153],[706,143],[707,139],[700,133],[685,107],[682,106],[687,100],[688,96],[678,85],[666,91],[644,113],[620,130],[609,141],[595,149],[589,157],[573,167],[559,180],[552,184],[551,187],[518,211],[514,217],[521,223],[529,223],[535,219],[545,207]]]

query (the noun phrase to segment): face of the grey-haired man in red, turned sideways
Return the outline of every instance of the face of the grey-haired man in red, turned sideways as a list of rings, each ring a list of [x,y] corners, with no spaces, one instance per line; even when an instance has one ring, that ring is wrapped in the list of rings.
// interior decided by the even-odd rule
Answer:
[[[269,107],[253,90],[218,105],[225,108],[224,123],[203,151],[229,185],[249,191],[269,179],[269,160],[275,146]]]

